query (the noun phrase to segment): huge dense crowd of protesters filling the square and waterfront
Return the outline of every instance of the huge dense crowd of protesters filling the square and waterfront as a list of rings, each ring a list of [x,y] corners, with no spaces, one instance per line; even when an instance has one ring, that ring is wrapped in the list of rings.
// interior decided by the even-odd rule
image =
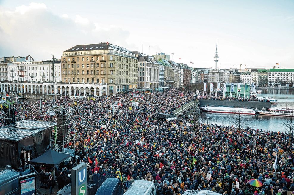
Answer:
[[[201,124],[193,118],[166,121],[156,113],[173,110],[194,99],[193,93],[121,93],[107,98],[67,98],[57,105],[75,105],[72,147],[88,163],[88,181],[101,186],[118,177],[125,189],[135,180],[154,182],[157,195],[187,189],[223,195],[289,195],[294,191],[294,145],[284,132]],[[112,101],[128,112],[115,107]],[[138,102],[137,107],[132,102]],[[50,101],[23,102],[23,118],[50,121]],[[253,133],[255,132],[255,133]],[[254,135],[255,134],[255,135]],[[275,164],[275,160],[276,165]],[[207,177],[210,174],[210,177]],[[255,178],[263,183],[254,187]],[[289,192],[290,191],[290,192]]]

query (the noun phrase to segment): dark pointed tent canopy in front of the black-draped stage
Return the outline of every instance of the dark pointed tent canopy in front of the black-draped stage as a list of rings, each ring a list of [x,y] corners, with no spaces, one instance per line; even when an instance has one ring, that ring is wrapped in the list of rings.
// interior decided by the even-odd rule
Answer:
[[[62,161],[70,157],[71,157],[70,154],[64,154],[64,153],[56,152],[54,150],[49,149],[41,156],[38,156],[37,158],[30,160],[30,163],[46,164],[46,165],[54,166],[54,165],[60,164]]]

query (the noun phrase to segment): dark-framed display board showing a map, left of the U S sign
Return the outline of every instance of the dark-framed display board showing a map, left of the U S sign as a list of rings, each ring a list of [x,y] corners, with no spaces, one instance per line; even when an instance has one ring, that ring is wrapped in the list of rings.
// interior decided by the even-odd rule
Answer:
[[[18,177],[18,189],[20,195],[36,195],[36,174],[31,173]]]

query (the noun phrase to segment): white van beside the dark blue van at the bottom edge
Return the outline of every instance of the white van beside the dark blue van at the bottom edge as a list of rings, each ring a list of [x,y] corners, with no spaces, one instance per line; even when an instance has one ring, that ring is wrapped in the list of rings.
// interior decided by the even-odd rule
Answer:
[[[136,180],[123,195],[156,195],[156,189],[151,181]]]

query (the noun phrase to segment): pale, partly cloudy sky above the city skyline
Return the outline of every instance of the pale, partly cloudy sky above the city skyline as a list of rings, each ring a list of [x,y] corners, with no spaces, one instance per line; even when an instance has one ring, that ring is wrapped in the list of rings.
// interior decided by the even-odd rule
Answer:
[[[108,41],[214,68],[218,40],[219,68],[294,68],[293,9],[293,0],[0,0],[0,56],[61,58]]]

